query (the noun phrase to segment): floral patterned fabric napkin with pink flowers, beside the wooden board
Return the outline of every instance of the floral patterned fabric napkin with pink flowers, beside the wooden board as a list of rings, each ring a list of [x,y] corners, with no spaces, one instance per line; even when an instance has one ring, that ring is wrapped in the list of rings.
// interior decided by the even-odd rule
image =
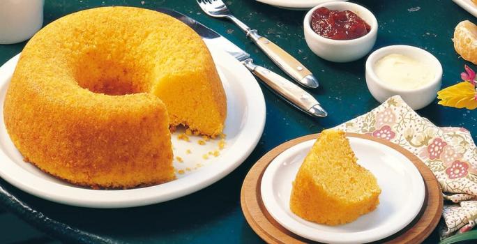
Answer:
[[[477,221],[477,147],[464,128],[437,127],[400,96],[336,127],[386,139],[417,155],[443,190],[441,238],[469,231]]]

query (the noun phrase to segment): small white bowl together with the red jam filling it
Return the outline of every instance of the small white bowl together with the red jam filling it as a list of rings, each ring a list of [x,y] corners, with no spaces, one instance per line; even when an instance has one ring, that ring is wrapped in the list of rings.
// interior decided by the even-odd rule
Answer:
[[[312,8],[305,16],[303,28],[312,52],[322,59],[343,63],[361,59],[370,52],[378,24],[367,8],[333,1]]]

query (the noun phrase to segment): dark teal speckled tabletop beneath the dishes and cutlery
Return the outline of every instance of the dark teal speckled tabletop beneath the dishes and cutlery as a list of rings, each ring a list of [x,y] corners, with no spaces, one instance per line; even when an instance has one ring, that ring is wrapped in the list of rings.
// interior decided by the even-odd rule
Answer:
[[[471,65],[455,53],[451,38],[458,22],[477,20],[452,1],[356,2],[370,8],[379,22],[374,49],[395,44],[427,49],[442,63],[443,86],[458,82],[464,64]],[[321,87],[308,91],[328,110],[328,117],[312,119],[262,86],[267,107],[266,126],[257,148],[238,169],[209,188],[162,204],[107,210],[54,204],[0,180],[1,206],[45,233],[68,242],[261,243],[243,218],[240,207],[241,184],[250,167],[273,147],[353,119],[377,107],[379,102],[372,98],[365,84],[365,58],[351,63],[331,63],[308,49],[303,38],[304,11],[283,10],[252,0],[226,3],[236,17],[258,29],[312,70],[320,79]],[[185,13],[243,47],[252,54],[255,63],[283,74],[234,24],[204,15],[195,1],[46,0],[45,24],[77,10],[112,5],[165,7]],[[23,46],[24,43],[0,45],[0,63],[15,56]],[[418,113],[439,126],[467,128],[477,139],[477,111],[441,107],[434,101]],[[434,231],[426,242],[436,241]]]

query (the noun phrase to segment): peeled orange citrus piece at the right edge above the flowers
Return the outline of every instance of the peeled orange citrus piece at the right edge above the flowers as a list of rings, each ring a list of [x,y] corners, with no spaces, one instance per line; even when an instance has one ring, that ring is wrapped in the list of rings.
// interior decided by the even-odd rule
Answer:
[[[455,52],[477,64],[477,25],[469,20],[460,22],[455,26],[453,41]]]

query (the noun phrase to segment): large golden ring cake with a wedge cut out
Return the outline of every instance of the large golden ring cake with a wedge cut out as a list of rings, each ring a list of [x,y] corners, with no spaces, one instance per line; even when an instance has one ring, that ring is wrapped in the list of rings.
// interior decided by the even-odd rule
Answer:
[[[24,47],[4,122],[25,160],[70,183],[132,188],[175,178],[169,126],[222,132],[211,54],[185,24],[104,7],[48,24]]]

